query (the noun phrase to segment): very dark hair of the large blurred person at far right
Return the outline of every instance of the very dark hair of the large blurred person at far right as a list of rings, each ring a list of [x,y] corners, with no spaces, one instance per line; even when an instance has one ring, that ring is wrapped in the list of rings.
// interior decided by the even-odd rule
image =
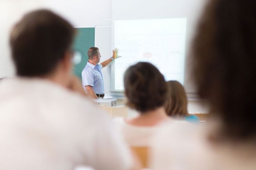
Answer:
[[[222,121],[222,135],[256,136],[256,1],[211,0],[193,44],[201,98]]]

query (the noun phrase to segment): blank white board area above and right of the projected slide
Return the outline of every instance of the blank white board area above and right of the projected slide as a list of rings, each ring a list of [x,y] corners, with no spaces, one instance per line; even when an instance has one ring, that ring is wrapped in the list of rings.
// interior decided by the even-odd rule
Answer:
[[[202,9],[208,0],[112,0],[112,21],[187,18],[184,86],[195,93],[191,79],[190,48]],[[113,38],[112,38],[113,39]]]

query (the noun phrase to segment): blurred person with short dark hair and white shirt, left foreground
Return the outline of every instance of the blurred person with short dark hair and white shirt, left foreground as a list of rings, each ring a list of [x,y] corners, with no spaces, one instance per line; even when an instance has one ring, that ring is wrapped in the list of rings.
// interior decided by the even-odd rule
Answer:
[[[83,91],[71,74],[73,36],[68,21],[45,9],[24,15],[12,29],[17,77],[0,82],[1,170],[133,168],[111,120],[72,91]]]

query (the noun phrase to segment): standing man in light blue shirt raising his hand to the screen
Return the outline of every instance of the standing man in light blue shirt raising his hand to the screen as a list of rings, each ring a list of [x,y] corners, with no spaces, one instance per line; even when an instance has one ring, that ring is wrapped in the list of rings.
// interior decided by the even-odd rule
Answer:
[[[82,71],[83,88],[92,98],[103,98],[104,97],[104,82],[102,77],[102,68],[106,67],[116,58],[118,50],[113,50],[113,56],[106,61],[100,62],[100,51],[97,47],[91,47],[88,54],[88,62]]]

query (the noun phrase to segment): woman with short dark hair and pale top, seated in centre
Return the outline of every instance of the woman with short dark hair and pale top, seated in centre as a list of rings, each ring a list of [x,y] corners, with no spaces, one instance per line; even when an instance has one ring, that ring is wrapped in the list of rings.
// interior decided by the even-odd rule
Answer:
[[[124,88],[126,104],[139,112],[139,116],[119,123],[119,128],[131,148],[149,150],[152,146],[151,139],[161,123],[172,121],[164,109],[167,97],[164,76],[151,63],[139,62],[126,70]],[[149,154],[148,152],[140,158],[144,168],[148,167],[144,157]]]

